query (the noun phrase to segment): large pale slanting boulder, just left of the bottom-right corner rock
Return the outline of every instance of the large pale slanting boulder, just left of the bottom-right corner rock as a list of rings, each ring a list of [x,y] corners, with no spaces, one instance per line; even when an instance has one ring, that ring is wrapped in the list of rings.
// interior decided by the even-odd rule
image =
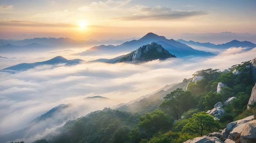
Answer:
[[[223,139],[234,139],[236,135],[243,131],[245,123],[252,121],[253,118],[254,115],[227,124],[226,128],[221,132]]]

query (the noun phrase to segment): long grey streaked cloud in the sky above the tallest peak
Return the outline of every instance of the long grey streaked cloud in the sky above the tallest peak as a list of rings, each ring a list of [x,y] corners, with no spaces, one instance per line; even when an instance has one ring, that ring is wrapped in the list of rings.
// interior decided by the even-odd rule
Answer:
[[[173,11],[168,7],[145,7],[137,5],[138,13],[132,16],[117,17],[114,19],[121,20],[173,20],[189,18],[193,16],[207,15],[206,11]]]

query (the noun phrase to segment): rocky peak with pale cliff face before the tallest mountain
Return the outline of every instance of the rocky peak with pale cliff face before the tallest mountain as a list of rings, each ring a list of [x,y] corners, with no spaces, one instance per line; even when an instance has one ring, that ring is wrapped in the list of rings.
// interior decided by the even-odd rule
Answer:
[[[129,62],[132,64],[139,64],[141,62],[148,62],[154,59],[167,59],[170,57],[176,57],[164,49],[161,45],[156,42],[151,42],[147,45],[139,47],[136,51],[125,55],[119,59],[118,62]]]

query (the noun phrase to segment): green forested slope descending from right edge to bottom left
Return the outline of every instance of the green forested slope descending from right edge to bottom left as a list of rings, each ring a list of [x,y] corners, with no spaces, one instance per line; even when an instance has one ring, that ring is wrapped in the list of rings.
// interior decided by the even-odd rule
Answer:
[[[59,134],[48,135],[45,139],[48,143],[182,143],[218,131],[231,121],[256,114],[256,105],[246,110],[254,86],[247,68],[250,64],[243,62],[225,72],[211,68],[197,71],[193,76],[204,78],[196,83],[188,84],[190,79],[184,79],[166,91],[160,90],[117,110],[106,108],[67,121],[56,130]],[[240,74],[233,74],[234,70]],[[228,87],[217,93],[219,82]],[[188,90],[183,90],[187,84]],[[224,104],[233,96],[236,99],[222,107],[227,114],[219,121],[206,113],[217,102]]]

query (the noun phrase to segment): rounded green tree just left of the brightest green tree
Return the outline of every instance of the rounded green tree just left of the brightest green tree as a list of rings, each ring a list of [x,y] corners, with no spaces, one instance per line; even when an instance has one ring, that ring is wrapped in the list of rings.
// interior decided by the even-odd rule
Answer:
[[[159,130],[168,130],[171,128],[171,122],[168,115],[160,110],[155,110],[146,113],[144,116],[139,117],[139,128],[144,128],[148,132],[158,132]],[[153,128],[153,131],[152,131]]]

